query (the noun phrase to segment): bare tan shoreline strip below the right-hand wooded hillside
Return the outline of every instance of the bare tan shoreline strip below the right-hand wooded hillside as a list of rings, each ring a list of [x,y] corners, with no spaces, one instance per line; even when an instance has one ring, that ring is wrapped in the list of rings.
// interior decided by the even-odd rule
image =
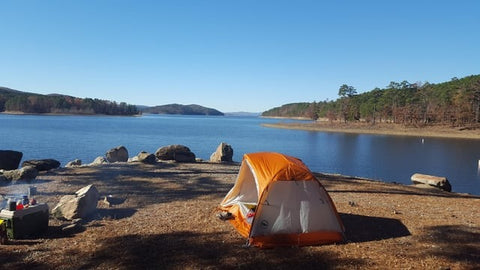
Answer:
[[[371,134],[371,135],[392,135],[412,137],[437,137],[457,139],[480,139],[480,130],[459,129],[446,126],[431,127],[405,127],[399,124],[380,123],[339,123],[339,122],[313,122],[313,123],[268,123],[264,127],[296,129],[320,132]]]

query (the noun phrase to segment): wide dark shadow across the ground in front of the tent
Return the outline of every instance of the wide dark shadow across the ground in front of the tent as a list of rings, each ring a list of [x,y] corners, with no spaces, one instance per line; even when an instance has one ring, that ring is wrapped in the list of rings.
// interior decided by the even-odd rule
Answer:
[[[120,236],[100,242],[95,254],[84,254],[88,260],[80,268],[326,269],[364,264],[360,259],[339,259],[326,250],[242,248],[240,242],[224,241],[226,237],[186,231]]]

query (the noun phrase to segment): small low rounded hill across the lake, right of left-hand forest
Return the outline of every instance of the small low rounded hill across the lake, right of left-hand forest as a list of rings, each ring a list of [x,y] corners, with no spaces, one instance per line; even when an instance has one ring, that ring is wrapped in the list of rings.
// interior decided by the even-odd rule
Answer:
[[[203,107],[197,104],[182,105],[176,103],[143,108],[142,112],[152,114],[224,115],[224,113],[216,109]]]

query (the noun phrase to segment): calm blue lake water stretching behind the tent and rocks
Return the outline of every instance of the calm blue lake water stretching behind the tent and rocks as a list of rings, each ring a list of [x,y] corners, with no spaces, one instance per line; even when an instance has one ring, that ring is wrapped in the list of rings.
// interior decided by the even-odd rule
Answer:
[[[130,156],[170,144],[209,159],[221,142],[235,161],[249,152],[276,151],[316,172],[410,184],[414,173],[447,177],[455,192],[480,195],[480,140],[326,133],[262,127],[278,119],[144,115],[142,117],[0,115],[0,149],[23,160],[90,163],[123,145]]]

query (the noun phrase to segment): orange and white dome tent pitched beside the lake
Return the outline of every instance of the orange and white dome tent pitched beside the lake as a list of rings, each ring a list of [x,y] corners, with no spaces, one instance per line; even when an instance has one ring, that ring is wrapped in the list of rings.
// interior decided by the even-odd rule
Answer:
[[[299,159],[270,152],[245,154],[221,217],[259,247],[339,242],[344,227],[332,199]]]

